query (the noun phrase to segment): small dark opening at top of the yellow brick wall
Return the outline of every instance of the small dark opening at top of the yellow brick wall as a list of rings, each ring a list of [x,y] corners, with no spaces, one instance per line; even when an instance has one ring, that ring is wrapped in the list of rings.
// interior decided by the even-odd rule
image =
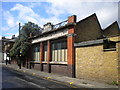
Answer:
[[[103,49],[104,51],[114,51],[116,50],[116,43],[108,39],[103,40]]]

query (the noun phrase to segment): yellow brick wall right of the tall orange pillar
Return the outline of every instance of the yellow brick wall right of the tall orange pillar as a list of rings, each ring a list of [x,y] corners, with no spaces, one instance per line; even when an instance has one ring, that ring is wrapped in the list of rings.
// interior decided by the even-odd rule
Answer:
[[[109,83],[117,81],[117,51],[104,52],[103,45],[76,48],[76,77]]]

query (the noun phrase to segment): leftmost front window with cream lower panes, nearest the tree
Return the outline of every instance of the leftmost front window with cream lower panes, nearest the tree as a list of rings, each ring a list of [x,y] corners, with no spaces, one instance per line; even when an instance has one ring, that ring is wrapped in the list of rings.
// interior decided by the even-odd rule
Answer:
[[[33,61],[40,61],[40,45],[33,46]]]

